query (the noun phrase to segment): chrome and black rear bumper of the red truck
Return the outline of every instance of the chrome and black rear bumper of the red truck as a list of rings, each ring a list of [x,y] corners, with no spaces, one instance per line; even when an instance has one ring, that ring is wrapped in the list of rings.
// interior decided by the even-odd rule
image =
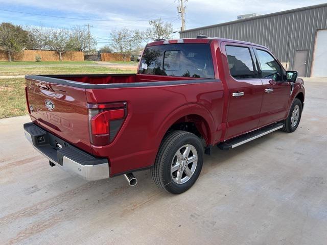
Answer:
[[[109,178],[109,164],[106,158],[85,153],[33,122],[24,124],[24,131],[25,137],[35,150],[68,173],[89,181]]]

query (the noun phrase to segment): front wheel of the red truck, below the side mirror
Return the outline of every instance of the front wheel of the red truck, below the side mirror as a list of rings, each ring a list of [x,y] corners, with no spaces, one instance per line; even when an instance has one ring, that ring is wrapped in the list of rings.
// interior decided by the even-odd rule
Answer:
[[[297,129],[298,124],[300,123],[302,115],[302,103],[299,99],[295,99],[288,117],[283,121],[284,127],[283,131],[292,133]]]

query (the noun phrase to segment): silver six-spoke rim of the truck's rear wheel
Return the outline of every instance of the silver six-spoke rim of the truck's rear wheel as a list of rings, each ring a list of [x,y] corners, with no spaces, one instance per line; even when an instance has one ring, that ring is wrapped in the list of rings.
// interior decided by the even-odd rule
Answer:
[[[172,160],[170,173],[177,184],[184,184],[195,173],[198,163],[198,153],[192,144],[184,144],[175,153]]]

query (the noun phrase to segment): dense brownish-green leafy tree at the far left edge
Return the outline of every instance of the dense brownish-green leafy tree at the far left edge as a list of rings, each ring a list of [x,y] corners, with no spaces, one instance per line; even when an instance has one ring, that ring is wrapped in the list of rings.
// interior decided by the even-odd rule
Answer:
[[[0,47],[7,51],[10,62],[12,61],[12,54],[26,47],[28,41],[28,32],[20,26],[6,22],[0,24]]]

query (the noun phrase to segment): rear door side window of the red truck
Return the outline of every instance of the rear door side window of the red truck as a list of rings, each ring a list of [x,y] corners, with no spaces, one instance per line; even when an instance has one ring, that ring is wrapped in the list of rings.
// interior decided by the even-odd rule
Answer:
[[[230,75],[236,79],[255,78],[253,61],[248,47],[226,46]]]

